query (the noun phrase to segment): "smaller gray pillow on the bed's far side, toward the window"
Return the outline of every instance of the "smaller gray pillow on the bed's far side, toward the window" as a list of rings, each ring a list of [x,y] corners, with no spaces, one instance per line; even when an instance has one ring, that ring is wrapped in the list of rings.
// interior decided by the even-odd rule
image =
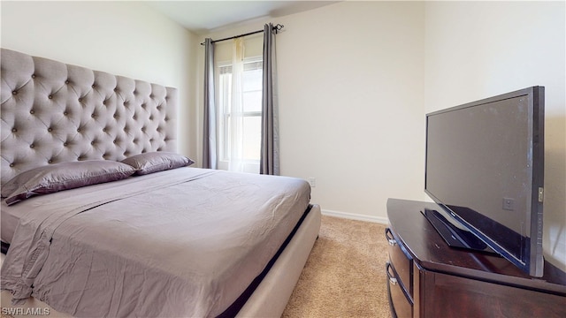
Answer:
[[[156,151],[133,155],[122,160],[122,163],[131,165],[136,170],[135,174],[142,176],[153,172],[186,167],[195,162],[184,155],[166,151]]]

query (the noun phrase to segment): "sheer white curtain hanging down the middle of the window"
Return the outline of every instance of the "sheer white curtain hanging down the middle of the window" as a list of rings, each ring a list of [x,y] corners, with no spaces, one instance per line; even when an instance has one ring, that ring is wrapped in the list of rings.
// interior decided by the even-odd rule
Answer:
[[[243,171],[243,87],[244,73],[244,40],[239,37],[233,40],[232,54],[232,100],[230,102],[230,163],[228,170]]]

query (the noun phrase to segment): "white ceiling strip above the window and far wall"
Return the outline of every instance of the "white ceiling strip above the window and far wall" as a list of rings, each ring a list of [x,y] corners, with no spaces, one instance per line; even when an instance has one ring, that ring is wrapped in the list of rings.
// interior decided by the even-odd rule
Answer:
[[[207,34],[250,19],[277,18],[337,2],[340,1],[148,1],[145,4],[195,34]]]

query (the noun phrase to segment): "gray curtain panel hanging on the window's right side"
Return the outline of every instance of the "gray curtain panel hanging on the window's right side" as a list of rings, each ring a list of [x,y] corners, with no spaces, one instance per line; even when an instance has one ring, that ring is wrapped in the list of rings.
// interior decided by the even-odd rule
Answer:
[[[275,32],[272,23],[264,26],[262,147],[259,173],[279,176],[279,114],[276,90]]]

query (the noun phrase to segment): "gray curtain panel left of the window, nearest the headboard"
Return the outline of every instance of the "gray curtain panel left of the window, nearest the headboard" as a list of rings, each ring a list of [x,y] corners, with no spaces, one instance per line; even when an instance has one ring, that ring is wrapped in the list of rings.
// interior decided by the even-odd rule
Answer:
[[[203,168],[217,169],[216,105],[214,98],[214,43],[204,40]]]

